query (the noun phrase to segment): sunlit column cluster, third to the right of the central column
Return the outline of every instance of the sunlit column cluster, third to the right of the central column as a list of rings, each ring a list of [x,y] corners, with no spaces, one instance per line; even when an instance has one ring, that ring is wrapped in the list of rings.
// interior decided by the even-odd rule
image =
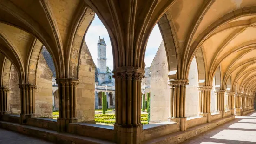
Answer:
[[[215,91],[215,96],[216,96],[216,113],[222,114],[224,117],[225,114],[225,101],[224,101],[224,96],[225,96],[225,91],[226,90],[216,90]]]

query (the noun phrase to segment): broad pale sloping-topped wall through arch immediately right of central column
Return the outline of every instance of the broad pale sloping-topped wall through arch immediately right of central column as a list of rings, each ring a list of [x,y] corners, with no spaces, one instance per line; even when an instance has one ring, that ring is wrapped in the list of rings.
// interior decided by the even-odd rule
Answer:
[[[167,121],[169,116],[169,85],[167,57],[162,42],[151,64],[151,122]]]

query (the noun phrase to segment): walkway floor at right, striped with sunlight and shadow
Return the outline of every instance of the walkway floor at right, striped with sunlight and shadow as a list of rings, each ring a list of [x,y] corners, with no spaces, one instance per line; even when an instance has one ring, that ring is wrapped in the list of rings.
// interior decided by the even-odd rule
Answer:
[[[256,111],[238,116],[182,144],[256,144]]]

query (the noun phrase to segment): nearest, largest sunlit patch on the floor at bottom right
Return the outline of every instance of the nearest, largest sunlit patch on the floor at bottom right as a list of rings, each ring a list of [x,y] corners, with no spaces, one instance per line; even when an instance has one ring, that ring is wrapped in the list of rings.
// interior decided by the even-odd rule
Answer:
[[[242,124],[242,123],[237,123],[237,124]],[[256,131],[223,130],[210,138],[234,140],[234,141],[245,141],[245,142],[256,142]]]

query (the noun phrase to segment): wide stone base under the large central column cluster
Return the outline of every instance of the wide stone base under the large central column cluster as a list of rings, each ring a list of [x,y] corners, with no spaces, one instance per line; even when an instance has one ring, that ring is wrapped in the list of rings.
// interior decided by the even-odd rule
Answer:
[[[126,127],[114,124],[116,130],[116,140],[118,144],[140,144],[142,133],[142,125]]]

